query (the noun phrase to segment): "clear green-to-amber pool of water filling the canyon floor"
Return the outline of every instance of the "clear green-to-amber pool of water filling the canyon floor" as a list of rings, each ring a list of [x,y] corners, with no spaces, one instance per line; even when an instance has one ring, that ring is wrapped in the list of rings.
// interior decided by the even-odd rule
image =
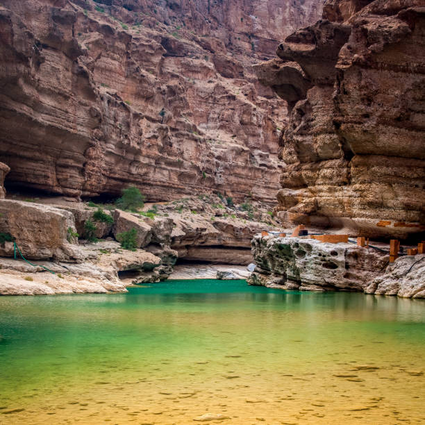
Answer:
[[[424,301],[169,281],[0,297],[0,335],[0,424],[425,421]]]

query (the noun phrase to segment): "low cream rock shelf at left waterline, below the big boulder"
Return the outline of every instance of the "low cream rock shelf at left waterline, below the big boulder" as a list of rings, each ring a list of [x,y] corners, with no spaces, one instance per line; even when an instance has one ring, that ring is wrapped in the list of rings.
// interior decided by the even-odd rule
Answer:
[[[84,258],[82,263],[33,260],[33,267],[24,260],[0,258],[0,294],[126,292],[127,285],[156,282],[164,276],[163,260],[143,249],[126,251],[115,241],[101,241],[78,249]]]

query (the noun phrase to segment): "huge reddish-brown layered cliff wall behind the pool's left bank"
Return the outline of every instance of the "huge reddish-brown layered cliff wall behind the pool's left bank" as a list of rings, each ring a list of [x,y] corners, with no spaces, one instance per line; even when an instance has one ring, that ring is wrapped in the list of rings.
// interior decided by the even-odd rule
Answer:
[[[274,202],[285,102],[251,65],[322,0],[3,0],[6,187]]]

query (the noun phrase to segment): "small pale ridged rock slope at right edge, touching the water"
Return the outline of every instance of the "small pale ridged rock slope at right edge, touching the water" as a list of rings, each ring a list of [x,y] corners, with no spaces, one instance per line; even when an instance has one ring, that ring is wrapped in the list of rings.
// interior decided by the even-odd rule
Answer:
[[[385,274],[369,283],[365,292],[425,298],[425,254],[397,258]]]

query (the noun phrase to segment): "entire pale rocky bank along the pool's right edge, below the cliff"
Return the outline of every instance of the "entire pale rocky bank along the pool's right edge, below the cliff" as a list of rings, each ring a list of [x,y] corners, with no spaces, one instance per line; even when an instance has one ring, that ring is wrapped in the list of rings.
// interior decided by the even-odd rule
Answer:
[[[256,235],[250,285],[286,290],[344,290],[425,298],[425,255],[397,258],[354,244]]]

